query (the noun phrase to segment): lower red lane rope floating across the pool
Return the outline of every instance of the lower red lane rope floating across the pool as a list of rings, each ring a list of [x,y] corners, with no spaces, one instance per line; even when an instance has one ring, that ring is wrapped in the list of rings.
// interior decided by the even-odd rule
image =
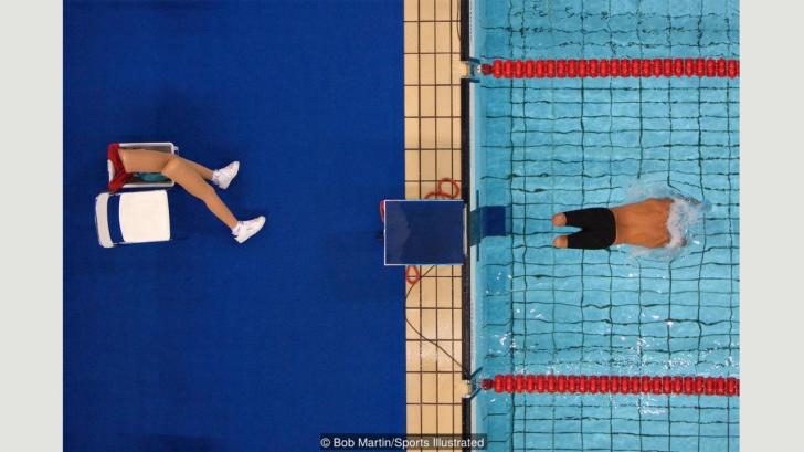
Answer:
[[[652,393],[684,396],[740,396],[740,379],[701,376],[617,375],[496,375],[480,388],[495,392]]]

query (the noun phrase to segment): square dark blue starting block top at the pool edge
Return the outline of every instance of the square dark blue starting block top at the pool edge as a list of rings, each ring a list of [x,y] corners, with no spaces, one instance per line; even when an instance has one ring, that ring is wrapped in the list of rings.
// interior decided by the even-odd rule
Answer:
[[[463,201],[385,201],[385,265],[464,263]]]

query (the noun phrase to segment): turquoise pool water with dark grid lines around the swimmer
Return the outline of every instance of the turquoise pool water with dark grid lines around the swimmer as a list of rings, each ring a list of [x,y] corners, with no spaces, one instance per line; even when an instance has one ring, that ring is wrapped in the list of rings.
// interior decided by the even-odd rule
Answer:
[[[737,1],[474,1],[473,56],[739,57]],[[473,203],[511,233],[474,250],[475,354],[495,374],[739,376],[739,80],[479,77]],[[559,211],[635,185],[705,200],[670,261],[556,250]],[[737,451],[739,399],[498,395],[474,400],[491,451]]]

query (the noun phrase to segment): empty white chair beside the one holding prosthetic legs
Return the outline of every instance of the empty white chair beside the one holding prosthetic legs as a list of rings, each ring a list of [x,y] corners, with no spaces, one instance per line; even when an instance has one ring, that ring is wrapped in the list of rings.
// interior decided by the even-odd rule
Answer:
[[[116,204],[116,206],[115,206]],[[109,222],[109,213],[118,221]],[[170,240],[170,209],[166,190],[98,195],[95,224],[100,246]]]

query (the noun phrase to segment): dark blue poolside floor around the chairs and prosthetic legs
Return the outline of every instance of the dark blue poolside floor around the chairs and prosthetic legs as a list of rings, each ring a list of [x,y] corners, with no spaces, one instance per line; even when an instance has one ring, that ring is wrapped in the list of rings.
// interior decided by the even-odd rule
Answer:
[[[402,1],[64,4],[66,451],[313,451],[404,431]],[[168,244],[98,246],[110,141],[218,167],[244,245],[170,191]]]

